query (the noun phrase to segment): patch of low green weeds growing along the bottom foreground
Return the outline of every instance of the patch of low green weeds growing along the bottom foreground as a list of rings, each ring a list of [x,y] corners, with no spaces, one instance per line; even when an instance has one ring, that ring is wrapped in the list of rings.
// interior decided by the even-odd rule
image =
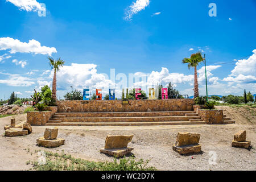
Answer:
[[[32,162],[34,169],[38,171],[153,171],[155,167],[148,167],[148,160],[135,160],[133,156],[122,158],[113,162],[93,162],[84,159],[73,158],[67,154],[46,152],[46,164]]]

